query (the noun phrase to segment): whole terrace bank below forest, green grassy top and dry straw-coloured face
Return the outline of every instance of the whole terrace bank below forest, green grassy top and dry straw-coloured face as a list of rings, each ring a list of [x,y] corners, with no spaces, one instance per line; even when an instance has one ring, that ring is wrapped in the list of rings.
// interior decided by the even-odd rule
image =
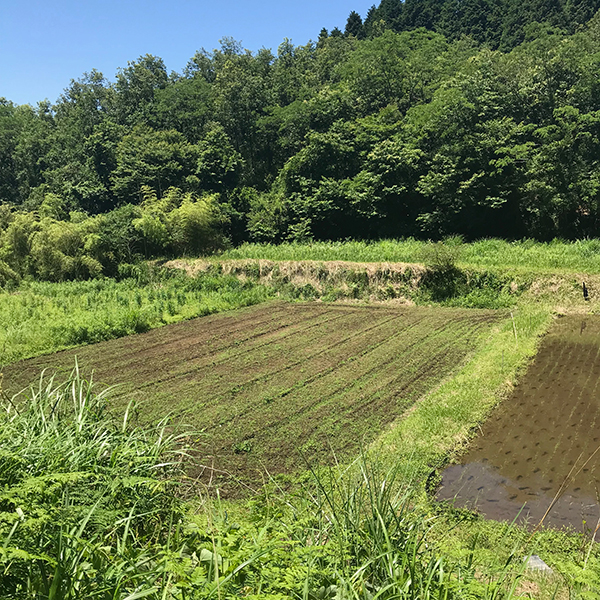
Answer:
[[[235,275],[287,298],[508,308],[525,293],[527,302],[585,311],[582,281],[592,299],[600,290],[598,250],[596,240],[246,244],[167,265]]]

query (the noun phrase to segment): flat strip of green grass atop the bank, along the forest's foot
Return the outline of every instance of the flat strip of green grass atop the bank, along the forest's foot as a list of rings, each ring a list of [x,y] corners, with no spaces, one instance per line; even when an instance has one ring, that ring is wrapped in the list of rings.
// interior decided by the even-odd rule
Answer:
[[[518,269],[525,272],[600,273],[600,241],[597,239],[576,242],[554,240],[547,243],[485,239],[463,244],[457,238],[448,241],[460,245],[458,264],[461,267]],[[429,245],[429,242],[413,238],[375,242],[243,244],[214,258],[418,263],[422,261],[422,254]]]

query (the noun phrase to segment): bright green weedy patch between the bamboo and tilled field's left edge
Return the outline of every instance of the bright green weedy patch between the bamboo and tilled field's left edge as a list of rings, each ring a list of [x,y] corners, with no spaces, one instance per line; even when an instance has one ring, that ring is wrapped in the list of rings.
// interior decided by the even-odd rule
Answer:
[[[232,276],[190,278],[145,265],[122,268],[120,280],[23,282],[12,292],[0,292],[0,364],[142,333],[272,296],[273,290]]]

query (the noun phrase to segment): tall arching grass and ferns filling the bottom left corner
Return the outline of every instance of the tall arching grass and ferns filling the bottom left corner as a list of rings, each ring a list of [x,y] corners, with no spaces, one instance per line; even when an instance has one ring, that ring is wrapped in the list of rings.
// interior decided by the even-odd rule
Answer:
[[[172,479],[181,439],[166,422],[113,421],[77,368],[2,400],[0,597],[141,598],[164,587],[156,549],[183,514]]]

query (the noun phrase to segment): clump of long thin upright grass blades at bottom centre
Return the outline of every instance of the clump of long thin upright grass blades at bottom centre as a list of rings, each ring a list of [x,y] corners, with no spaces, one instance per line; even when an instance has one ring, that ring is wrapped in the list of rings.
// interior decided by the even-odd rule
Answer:
[[[396,480],[394,468],[379,471],[364,458],[355,466],[356,479],[347,473],[327,479],[313,473],[318,537],[330,539],[337,549],[338,597],[461,597],[474,574],[448,564],[428,543],[434,518],[415,507],[411,486]],[[485,595],[484,586],[481,591]]]

